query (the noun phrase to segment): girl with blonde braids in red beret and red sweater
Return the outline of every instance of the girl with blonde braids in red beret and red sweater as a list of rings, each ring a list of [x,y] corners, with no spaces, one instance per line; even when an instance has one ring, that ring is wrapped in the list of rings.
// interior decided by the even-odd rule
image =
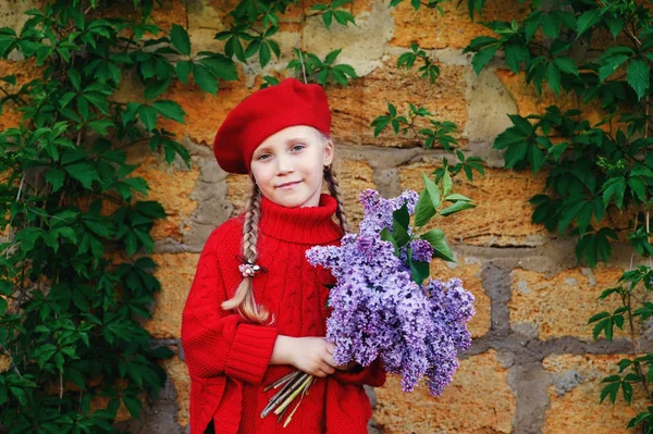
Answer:
[[[246,212],[209,235],[183,312],[192,434],[367,433],[362,385],[382,386],[385,372],[380,359],[334,363],[323,337],[334,280],[305,257],[347,231],[330,135],[324,90],[295,78],[245,98],[215,135],[218,164],[252,186]],[[276,392],[263,388],[295,369],[317,381],[284,429],[260,418]]]

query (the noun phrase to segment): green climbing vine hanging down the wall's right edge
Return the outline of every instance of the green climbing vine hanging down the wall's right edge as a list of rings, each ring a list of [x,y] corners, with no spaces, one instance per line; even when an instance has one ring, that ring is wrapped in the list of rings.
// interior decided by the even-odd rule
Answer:
[[[532,221],[558,236],[576,237],[579,263],[607,263],[616,241],[632,249],[629,269],[599,296],[616,299],[618,308],[594,314],[589,323],[594,339],[613,340],[615,328],[627,332],[630,357],[603,380],[600,400],[615,404],[621,396],[630,405],[641,389],[646,410],[628,427],[651,433],[653,352],[641,346],[653,315],[651,13],[629,0],[554,1],[546,8],[538,1],[522,21],[484,25],[495,36],[475,38],[465,49],[475,53],[477,73],[502,50],[506,66],[538,95],[545,84],[558,96],[575,97],[572,107],[552,104],[544,113],[509,115],[513,126],[493,147],[505,151],[508,169],[546,171],[545,190],[530,199]],[[600,120],[591,122],[589,111]]]

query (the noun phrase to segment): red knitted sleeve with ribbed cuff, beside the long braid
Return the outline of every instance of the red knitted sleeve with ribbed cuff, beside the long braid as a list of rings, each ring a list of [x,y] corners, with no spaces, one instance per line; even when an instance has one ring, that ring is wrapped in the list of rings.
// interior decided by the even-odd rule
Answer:
[[[182,314],[182,345],[192,376],[227,375],[259,384],[268,369],[278,330],[247,323],[221,308],[226,297],[215,250],[215,232],[199,257]]]

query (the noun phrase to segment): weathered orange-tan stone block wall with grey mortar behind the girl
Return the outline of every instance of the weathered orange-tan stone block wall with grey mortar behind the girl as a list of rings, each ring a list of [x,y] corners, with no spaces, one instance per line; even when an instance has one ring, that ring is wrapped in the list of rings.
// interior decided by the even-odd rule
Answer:
[[[155,21],[164,28],[172,23],[187,26],[195,51],[219,50],[213,39],[225,26],[226,11],[236,0],[163,1]],[[412,11],[409,1],[389,9],[387,0],[354,0],[349,4],[357,26],[333,24],[328,32],[320,17],[307,16],[311,4],[298,1],[282,20],[276,40],[282,58],[266,74],[285,76],[292,48],[324,55],[343,48],[340,61],[354,65],[359,79],[348,87],[328,88],[333,111],[334,140],[341,184],[349,218],[361,216],[357,195],[375,188],[395,196],[404,188],[421,188],[420,172],[432,172],[445,153],[423,150],[412,137],[385,132],[373,138],[370,122],[385,111],[386,102],[404,101],[429,108],[438,119],[458,125],[456,137],[466,154],[488,162],[486,176],[473,183],[457,178],[455,189],[478,201],[438,225],[457,258],[456,264],[436,261],[436,276],[460,276],[477,298],[477,317],[470,328],[475,340],[453,384],[439,398],[426,387],[414,394],[401,392],[396,377],[371,392],[375,395],[374,426],[385,433],[615,433],[626,432],[637,408],[599,404],[600,380],[615,371],[615,361],[628,351],[625,340],[594,343],[587,324],[592,313],[607,305],[596,296],[612,285],[627,265],[628,251],[617,247],[609,266],[594,271],[576,266],[574,239],[551,236],[530,222],[527,200],[542,190],[545,174],[503,170],[502,156],[491,149],[496,135],[509,121],[506,113],[542,111],[555,101],[547,94],[538,99],[523,85],[523,77],[509,72],[501,60],[477,76],[471,57],[463,48],[476,36],[490,34],[479,18],[469,20],[466,4],[456,9],[443,3],[444,17],[435,11]],[[16,26],[29,1],[0,1],[0,26]],[[520,18],[527,3],[495,0],[484,9],[488,21]],[[418,42],[436,60],[441,76],[434,85],[416,71],[396,70],[397,57]],[[28,74],[19,62],[0,64],[0,76],[9,71]],[[164,365],[170,382],[161,397],[147,404],[141,422],[125,423],[135,433],[183,433],[188,430],[189,379],[180,344],[183,303],[195,273],[199,251],[209,233],[243,209],[247,179],[222,172],[210,144],[226,113],[255,91],[261,72],[239,67],[242,80],[224,83],[218,96],[194,86],[174,83],[163,96],[178,101],[187,112],[186,124],[167,123],[193,156],[190,170],[171,169],[147,149],[132,152],[143,163],[137,175],[151,187],[150,199],[161,201],[169,216],[155,227],[153,259],[162,283],[153,319],[147,328],[157,339],[177,350]],[[137,80],[125,78],[125,95],[137,95]],[[588,112],[591,116],[594,113]],[[14,122],[12,114],[0,126]],[[374,397],[374,396],[373,396]]]

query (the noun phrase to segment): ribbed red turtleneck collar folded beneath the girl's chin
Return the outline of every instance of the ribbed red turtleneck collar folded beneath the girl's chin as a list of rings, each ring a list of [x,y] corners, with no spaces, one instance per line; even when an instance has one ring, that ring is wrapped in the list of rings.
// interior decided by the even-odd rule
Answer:
[[[321,194],[318,207],[286,208],[261,198],[259,231],[272,238],[298,244],[326,244],[343,231],[332,218],[337,209],[333,196]]]

